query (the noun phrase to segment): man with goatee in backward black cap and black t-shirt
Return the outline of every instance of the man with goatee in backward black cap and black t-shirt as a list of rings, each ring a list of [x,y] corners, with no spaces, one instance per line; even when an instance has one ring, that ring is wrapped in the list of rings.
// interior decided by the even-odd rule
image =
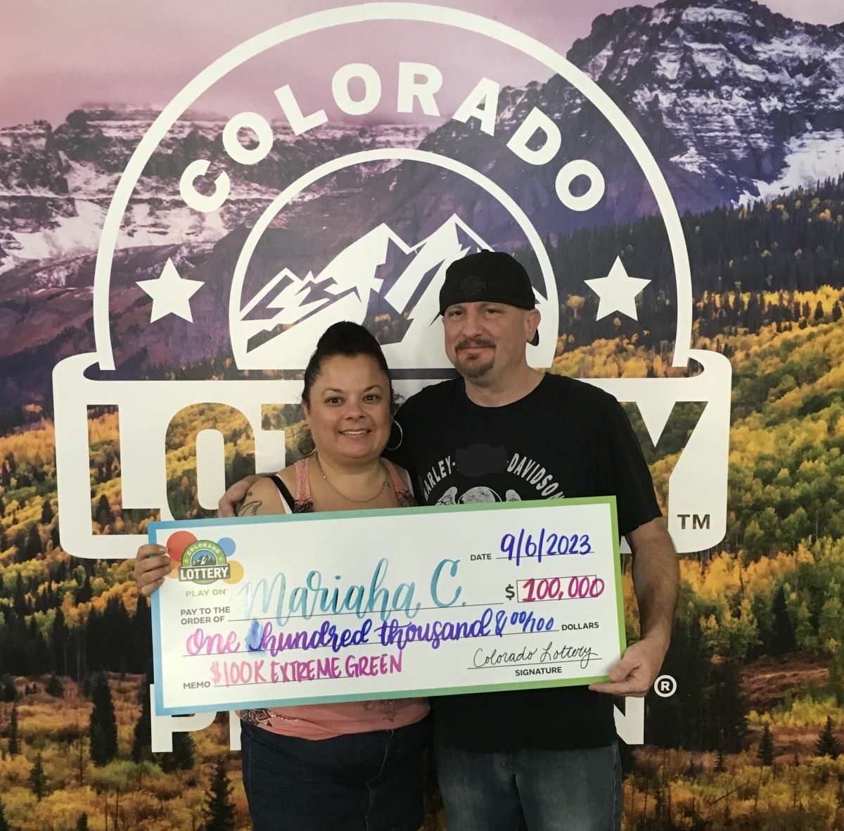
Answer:
[[[449,831],[619,828],[621,774],[606,693],[641,696],[651,687],[679,582],[647,464],[611,395],[528,367],[539,312],[514,258],[482,251],[452,263],[440,314],[460,377],[408,399],[392,458],[417,477],[428,504],[614,495],[641,619],[641,639],[609,682],[432,699]],[[221,509],[230,513],[225,497]]]

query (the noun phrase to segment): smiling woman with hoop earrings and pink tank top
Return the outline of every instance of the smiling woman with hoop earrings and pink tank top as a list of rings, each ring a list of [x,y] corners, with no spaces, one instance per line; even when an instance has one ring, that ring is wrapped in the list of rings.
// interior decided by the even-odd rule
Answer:
[[[314,452],[253,483],[240,516],[414,505],[406,472],[381,451],[392,427],[392,383],[375,338],[335,323],[305,371],[302,407]],[[172,564],[138,549],[149,595]],[[306,556],[306,552],[303,552]],[[241,712],[243,783],[253,827],[412,831],[423,821],[424,698],[311,704]]]

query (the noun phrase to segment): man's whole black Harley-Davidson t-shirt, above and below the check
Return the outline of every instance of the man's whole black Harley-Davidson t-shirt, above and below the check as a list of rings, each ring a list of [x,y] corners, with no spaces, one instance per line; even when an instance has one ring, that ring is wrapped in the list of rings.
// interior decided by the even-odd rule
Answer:
[[[390,454],[414,477],[421,504],[614,496],[619,533],[660,515],[651,475],[618,401],[591,384],[545,375],[503,407],[481,407],[463,378],[426,387],[397,415]],[[464,750],[603,747],[613,701],[587,687],[432,698],[436,729]]]

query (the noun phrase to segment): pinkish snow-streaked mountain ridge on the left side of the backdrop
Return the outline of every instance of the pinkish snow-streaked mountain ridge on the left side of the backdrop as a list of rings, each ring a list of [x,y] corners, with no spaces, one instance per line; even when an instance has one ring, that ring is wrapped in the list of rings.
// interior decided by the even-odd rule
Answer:
[[[116,184],[157,115],[126,107],[80,109],[55,130],[44,121],[0,128],[0,274],[23,263],[96,250]],[[176,122],[143,171],[118,247],[216,242],[313,166],[362,149],[415,147],[427,133],[414,125],[341,125],[321,128],[318,139],[306,141],[288,125],[275,124],[267,159],[237,166],[219,141],[224,126],[225,118],[203,113],[188,112]],[[219,211],[199,213],[180,197],[181,171],[196,158],[230,177],[230,197]],[[367,166],[359,177],[389,166]],[[354,172],[344,177],[345,186],[359,183]]]

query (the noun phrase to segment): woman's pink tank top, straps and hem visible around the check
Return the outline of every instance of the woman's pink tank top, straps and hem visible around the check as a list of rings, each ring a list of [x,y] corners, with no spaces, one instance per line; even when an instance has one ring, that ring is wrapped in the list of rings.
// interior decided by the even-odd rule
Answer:
[[[392,480],[392,488],[401,507],[415,505],[413,493],[399,474],[395,464],[382,459]],[[309,513],[313,510],[311,484],[308,481],[308,460],[295,464],[295,504],[288,513]],[[282,736],[300,739],[330,739],[349,733],[393,730],[415,724],[425,718],[427,698],[382,698],[378,701],[344,701],[334,704],[302,704],[299,707],[272,707],[241,710],[241,720]]]

